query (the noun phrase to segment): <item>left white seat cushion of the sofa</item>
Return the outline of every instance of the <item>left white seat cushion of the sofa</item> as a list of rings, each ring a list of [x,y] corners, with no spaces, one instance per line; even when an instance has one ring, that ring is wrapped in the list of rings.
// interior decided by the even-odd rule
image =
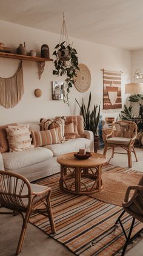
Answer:
[[[6,170],[16,170],[50,159],[53,157],[53,153],[51,150],[41,147],[18,152],[5,152],[2,153],[2,157]]]

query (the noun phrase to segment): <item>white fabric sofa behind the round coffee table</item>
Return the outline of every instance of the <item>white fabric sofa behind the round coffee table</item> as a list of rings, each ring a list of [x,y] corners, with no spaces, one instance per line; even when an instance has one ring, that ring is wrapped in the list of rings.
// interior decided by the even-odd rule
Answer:
[[[31,123],[31,130],[40,130],[39,123]],[[0,153],[0,168],[25,176],[29,181],[44,178],[60,171],[56,161],[61,154],[86,148],[93,151],[93,133],[85,131],[86,138],[68,139],[62,144],[35,147],[29,150]]]

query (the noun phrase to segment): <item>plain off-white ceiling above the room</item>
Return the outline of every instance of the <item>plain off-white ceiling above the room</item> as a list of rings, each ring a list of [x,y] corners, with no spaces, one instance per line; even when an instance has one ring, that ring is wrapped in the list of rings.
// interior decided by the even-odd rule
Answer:
[[[0,19],[107,46],[143,48],[143,0],[1,0]]]

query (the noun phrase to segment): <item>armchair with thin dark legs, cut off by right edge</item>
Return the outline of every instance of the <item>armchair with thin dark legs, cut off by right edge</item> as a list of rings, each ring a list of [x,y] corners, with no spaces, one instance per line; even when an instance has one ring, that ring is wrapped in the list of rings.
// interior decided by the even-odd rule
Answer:
[[[135,190],[135,192],[134,192],[133,196],[131,198],[129,198],[131,190]],[[127,188],[124,202],[122,202],[122,207],[124,210],[121,213],[121,215],[118,217],[115,225],[117,225],[118,223],[121,224],[122,231],[124,232],[124,235],[126,238],[126,242],[124,244],[124,248],[123,248],[122,255],[121,255],[121,256],[124,256],[127,245],[130,242],[131,232],[133,230],[135,219],[143,222],[143,177],[139,181],[138,185],[130,185]],[[130,214],[133,217],[133,220],[131,222],[131,227],[128,232],[128,236],[127,236],[125,229],[123,227],[123,224],[121,222],[121,218],[125,212],[127,212],[128,214]]]

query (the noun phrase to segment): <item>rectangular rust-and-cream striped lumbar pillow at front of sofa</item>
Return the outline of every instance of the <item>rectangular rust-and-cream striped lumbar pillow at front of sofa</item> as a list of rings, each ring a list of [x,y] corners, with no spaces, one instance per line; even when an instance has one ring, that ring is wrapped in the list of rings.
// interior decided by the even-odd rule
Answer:
[[[35,147],[61,143],[59,140],[59,128],[47,131],[31,131],[31,133]]]

